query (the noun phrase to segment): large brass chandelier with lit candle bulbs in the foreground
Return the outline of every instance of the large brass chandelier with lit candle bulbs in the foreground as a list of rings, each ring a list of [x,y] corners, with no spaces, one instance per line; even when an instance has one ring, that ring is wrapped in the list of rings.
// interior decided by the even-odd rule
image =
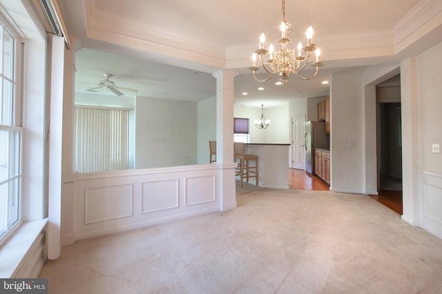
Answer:
[[[290,39],[286,37],[286,34],[290,28],[290,23],[287,23],[285,20],[285,0],[282,0],[282,22],[280,24],[281,39],[278,40],[278,43],[281,44],[282,48],[280,48],[279,51],[275,51],[273,49],[273,45],[271,44],[269,46],[269,50],[265,49],[265,35],[264,33],[261,34],[260,47],[253,53],[253,66],[249,68],[249,70],[253,72],[253,77],[256,79],[256,81],[267,81],[273,77],[273,75],[278,74],[280,81],[286,85],[287,79],[289,79],[291,74],[294,74],[303,80],[313,79],[316,77],[316,75],[318,75],[318,70],[320,66],[323,66],[324,63],[319,61],[319,48],[317,48],[316,44],[312,43],[311,41],[311,38],[313,37],[313,28],[310,26],[307,30],[307,45],[302,47],[302,43],[299,42],[298,46],[293,50],[287,47]],[[316,50],[316,61],[311,63],[311,66],[316,68],[316,71],[311,77],[302,77],[300,72],[305,68],[305,65],[309,61],[311,52],[314,50]],[[262,80],[257,79],[255,76],[255,72],[259,70],[258,66],[256,66],[257,57],[259,58],[262,68],[264,68],[264,70],[269,74],[269,77]]]

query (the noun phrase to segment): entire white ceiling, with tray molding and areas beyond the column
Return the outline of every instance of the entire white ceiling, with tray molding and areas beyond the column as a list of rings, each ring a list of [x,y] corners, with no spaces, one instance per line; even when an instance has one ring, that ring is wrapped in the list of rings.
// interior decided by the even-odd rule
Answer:
[[[287,0],[293,46],[305,41],[305,29],[313,26],[325,66],[310,81],[291,77],[287,86],[275,86],[276,77],[258,83],[247,68],[261,32],[269,40],[280,37],[279,1],[58,2],[71,39],[81,47],[76,55],[79,91],[93,88],[109,72],[117,86],[137,88],[140,96],[199,101],[215,95],[212,74],[224,68],[239,73],[236,103],[267,107],[328,95],[329,86],[320,82],[332,72],[398,62],[442,41],[442,21],[434,24],[441,0]],[[419,30],[423,27],[425,33]],[[256,90],[260,86],[265,90]]]

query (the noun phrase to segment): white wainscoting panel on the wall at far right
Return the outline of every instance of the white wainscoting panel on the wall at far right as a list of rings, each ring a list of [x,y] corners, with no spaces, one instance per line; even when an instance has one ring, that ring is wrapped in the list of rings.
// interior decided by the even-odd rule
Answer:
[[[442,239],[442,175],[420,170],[421,227]]]

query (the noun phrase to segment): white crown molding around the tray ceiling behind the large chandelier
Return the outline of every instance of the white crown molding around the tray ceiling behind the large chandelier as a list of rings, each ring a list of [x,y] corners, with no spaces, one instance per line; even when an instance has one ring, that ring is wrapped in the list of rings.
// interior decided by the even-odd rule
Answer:
[[[213,68],[248,68],[256,43],[220,47],[206,40],[189,39],[135,19],[101,10],[95,0],[84,0],[89,38],[200,63]],[[421,0],[392,28],[343,35],[315,36],[322,61],[390,58],[442,26],[442,1]],[[296,38],[294,38],[296,39]]]

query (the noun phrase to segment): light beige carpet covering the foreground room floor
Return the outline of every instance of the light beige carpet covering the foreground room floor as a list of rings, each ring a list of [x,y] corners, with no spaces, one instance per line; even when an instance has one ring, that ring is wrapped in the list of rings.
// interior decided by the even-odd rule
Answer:
[[[270,190],[238,208],[88,239],[49,293],[441,293],[442,240],[366,195]]]

